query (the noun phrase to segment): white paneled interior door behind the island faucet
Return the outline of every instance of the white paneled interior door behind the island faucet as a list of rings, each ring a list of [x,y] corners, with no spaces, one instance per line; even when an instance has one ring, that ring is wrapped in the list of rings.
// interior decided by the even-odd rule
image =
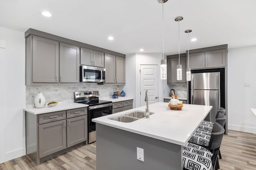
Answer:
[[[145,106],[148,90],[148,104],[158,102],[158,65],[140,65],[140,106]]]

